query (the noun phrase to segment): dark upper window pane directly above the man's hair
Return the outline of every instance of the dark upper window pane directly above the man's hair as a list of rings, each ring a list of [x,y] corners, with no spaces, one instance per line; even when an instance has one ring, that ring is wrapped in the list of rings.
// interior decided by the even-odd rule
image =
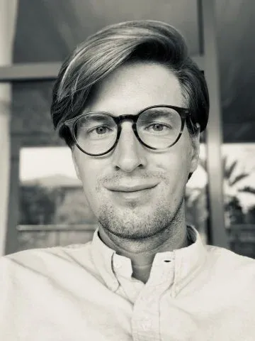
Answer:
[[[14,63],[64,60],[77,44],[103,26],[137,19],[166,21],[179,28],[191,54],[198,54],[196,0],[18,2]]]

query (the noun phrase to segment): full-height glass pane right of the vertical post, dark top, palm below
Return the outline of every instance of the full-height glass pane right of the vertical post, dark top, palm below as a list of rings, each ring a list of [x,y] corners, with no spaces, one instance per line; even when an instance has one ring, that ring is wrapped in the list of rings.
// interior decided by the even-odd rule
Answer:
[[[243,1],[217,1],[225,228],[230,248],[255,258],[253,14],[253,0],[245,6]]]

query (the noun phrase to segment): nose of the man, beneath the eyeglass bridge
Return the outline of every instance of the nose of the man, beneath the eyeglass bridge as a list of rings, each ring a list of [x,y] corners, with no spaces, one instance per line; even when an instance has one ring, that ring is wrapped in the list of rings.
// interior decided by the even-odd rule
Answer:
[[[131,173],[135,168],[144,168],[146,165],[146,151],[137,140],[132,130],[132,123],[130,121],[123,122],[120,139],[113,152],[113,166]]]

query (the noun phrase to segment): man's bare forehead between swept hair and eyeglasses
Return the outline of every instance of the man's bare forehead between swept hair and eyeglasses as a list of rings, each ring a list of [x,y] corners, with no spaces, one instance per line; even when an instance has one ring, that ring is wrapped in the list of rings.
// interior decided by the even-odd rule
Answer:
[[[135,114],[159,104],[183,107],[179,80],[164,65],[132,63],[111,72],[96,86],[86,110]]]

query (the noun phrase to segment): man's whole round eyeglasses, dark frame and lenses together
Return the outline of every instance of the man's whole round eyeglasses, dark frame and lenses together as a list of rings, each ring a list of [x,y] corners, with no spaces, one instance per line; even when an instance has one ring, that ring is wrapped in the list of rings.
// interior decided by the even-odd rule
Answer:
[[[113,116],[108,112],[86,112],[64,121],[74,143],[90,156],[102,156],[115,148],[121,134],[121,123],[132,121],[132,130],[140,143],[153,150],[174,146],[183,132],[189,109],[171,105],[155,105],[135,115]]]

